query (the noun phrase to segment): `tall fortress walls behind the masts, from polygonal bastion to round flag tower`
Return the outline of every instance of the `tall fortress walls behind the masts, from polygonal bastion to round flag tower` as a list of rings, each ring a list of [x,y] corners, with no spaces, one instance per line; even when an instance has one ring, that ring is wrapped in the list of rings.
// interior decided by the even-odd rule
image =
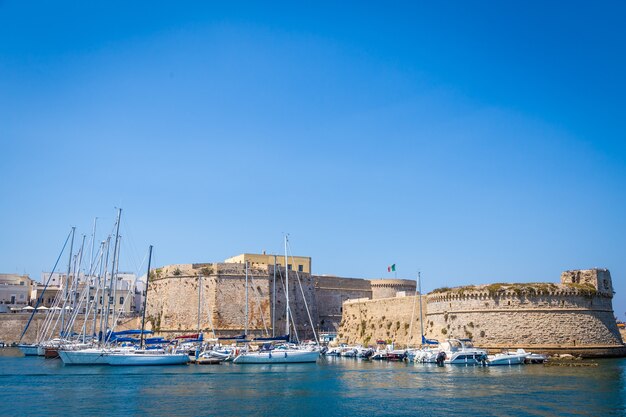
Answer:
[[[284,268],[277,267],[274,285],[273,265],[255,263],[248,269],[249,334],[272,334],[272,323],[274,334],[285,333],[284,277]],[[292,324],[302,339],[313,338],[311,322],[318,332],[337,331],[347,300],[415,292],[415,281],[402,279],[370,281],[290,271],[289,282]],[[245,331],[243,263],[168,265],[151,272],[148,291],[148,328],[158,333],[194,332],[198,319],[208,334],[215,330],[217,336],[235,336]]]

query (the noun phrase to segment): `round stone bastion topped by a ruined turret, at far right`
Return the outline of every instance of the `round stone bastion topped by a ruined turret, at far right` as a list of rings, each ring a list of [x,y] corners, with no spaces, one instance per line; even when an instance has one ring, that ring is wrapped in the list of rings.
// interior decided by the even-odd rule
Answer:
[[[485,347],[622,348],[608,270],[566,271],[560,284],[495,283],[439,288],[426,297],[426,333]]]

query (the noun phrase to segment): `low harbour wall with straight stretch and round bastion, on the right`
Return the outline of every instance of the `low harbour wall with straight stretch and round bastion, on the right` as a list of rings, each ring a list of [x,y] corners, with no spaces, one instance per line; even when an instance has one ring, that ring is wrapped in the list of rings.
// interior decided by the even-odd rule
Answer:
[[[419,344],[419,318],[413,322],[412,334],[407,325],[408,312],[414,311],[413,298],[345,302],[340,339],[347,343],[383,339],[398,345]],[[492,351],[524,348],[623,356],[626,350],[612,298],[611,275],[606,269],[566,271],[560,284],[441,288],[422,298],[424,332],[439,341],[472,338],[476,345]],[[418,308],[415,311],[419,316]]]

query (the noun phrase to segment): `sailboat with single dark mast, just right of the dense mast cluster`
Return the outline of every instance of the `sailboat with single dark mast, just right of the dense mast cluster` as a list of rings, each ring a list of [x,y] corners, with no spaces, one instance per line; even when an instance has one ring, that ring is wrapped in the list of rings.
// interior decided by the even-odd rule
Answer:
[[[152,245],[148,255],[148,274],[146,275],[146,296],[143,300],[143,315],[141,317],[140,349],[129,351],[109,351],[105,354],[109,365],[183,365],[189,362],[186,353],[165,352],[162,349],[145,349],[144,333],[146,325],[146,304],[148,300],[148,283],[150,282],[150,262],[152,260]]]

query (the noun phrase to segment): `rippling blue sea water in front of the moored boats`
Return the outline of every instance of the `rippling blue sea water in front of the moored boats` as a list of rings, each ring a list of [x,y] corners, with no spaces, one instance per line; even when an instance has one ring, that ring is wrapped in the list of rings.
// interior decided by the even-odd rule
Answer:
[[[0,349],[0,415],[624,416],[626,360],[597,367],[64,366]]]

